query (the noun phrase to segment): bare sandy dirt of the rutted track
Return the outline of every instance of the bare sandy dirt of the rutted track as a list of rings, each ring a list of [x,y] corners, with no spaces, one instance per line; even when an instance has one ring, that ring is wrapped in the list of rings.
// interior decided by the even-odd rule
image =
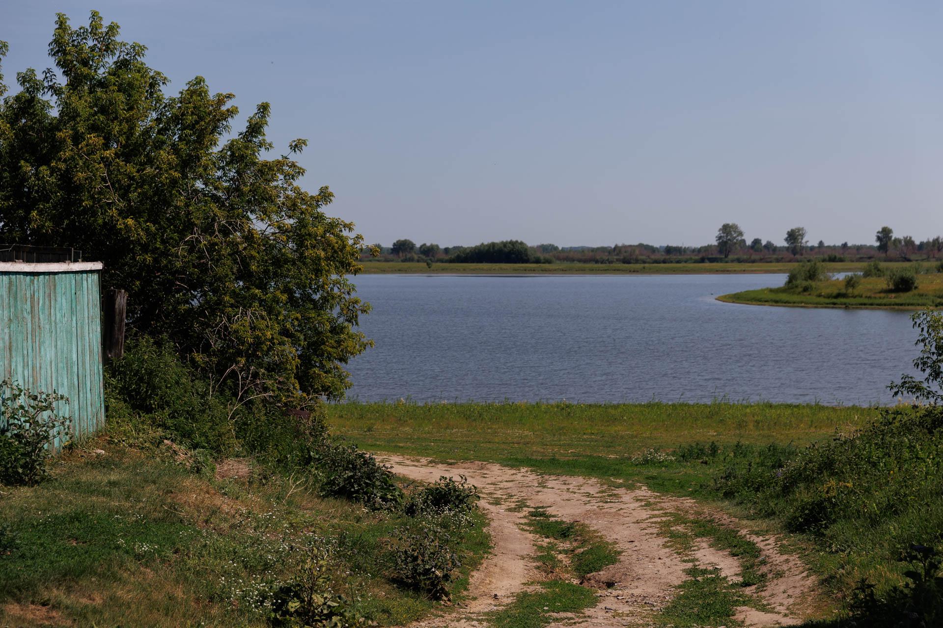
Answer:
[[[513,601],[541,576],[533,556],[539,540],[522,528],[524,515],[518,501],[529,507],[545,507],[551,514],[582,522],[613,542],[621,551],[619,561],[601,572],[589,574],[587,587],[599,589],[598,603],[579,617],[560,617],[553,626],[620,628],[652,625],[654,614],[668,604],[674,588],[687,579],[685,562],[660,535],[658,523],[670,512],[710,516],[734,525],[735,520],[709,510],[693,500],[660,495],[644,488],[614,489],[602,482],[569,475],[538,475],[527,469],[488,462],[441,464],[429,459],[378,454],[393,473],[433,482],[441,475],[465,475],[478,487],[481,506],[488,514],[493,553],[472,573],[469,602],[438,618],[413,624],[417,628],[479,628],[487,623],[480,615]],[[746,589],[773,612],[741,608],[737,620],[748,626],[780,626],[798,623],[806,601],[815,593],[814,579],[794,556],[782,554],[778,542],[744,533],[760,546],[767,558],[769,583],[762,590]],[[699,543],[692,553],[701,566],[716,566],[734,578],[736,558]]]

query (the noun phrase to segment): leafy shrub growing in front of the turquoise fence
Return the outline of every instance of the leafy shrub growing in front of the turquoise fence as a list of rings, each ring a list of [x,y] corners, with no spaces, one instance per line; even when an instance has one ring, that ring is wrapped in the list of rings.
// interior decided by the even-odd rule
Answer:
[[[60,401],[69,402],[57,393],[0,382],[0,484],[36,484],[45,477],[49,445],[70,424],[56,412]]]

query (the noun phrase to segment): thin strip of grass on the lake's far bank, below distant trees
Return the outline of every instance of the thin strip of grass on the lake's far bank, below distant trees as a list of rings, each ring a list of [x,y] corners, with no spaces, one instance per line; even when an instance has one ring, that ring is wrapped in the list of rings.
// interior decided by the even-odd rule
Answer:
[[[381,274],[443,274],[443,275],[675,275],[729,273],[787,273],[795,263],[722,263],[722,264],[579,264],[561,262],[557,264],[433,264],[424,262],[361,262],[363,273]],[[864,268],[863,262],[833,262],[825,264],[828,272],[854,272]],[[889,268],[906,266],[905,263],[890,262]]]

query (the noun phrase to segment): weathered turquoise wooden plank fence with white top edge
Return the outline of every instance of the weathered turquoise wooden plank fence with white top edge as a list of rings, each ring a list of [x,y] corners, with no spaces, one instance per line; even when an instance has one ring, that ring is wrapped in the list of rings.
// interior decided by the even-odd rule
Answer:
[[[0,380],[69,397],[57,448],[105,424],[101,268],[0,262]]]

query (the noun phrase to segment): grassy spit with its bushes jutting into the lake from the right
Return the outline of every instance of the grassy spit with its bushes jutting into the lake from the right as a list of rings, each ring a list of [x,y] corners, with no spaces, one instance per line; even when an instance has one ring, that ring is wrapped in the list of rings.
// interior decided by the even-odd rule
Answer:
[[[935,265],[869,262],[842,279],[811,260],[793,265],[779,288],[745,290],[718,300],[744,305],[814,308],[905,309],[943,307],[943,262]]]

